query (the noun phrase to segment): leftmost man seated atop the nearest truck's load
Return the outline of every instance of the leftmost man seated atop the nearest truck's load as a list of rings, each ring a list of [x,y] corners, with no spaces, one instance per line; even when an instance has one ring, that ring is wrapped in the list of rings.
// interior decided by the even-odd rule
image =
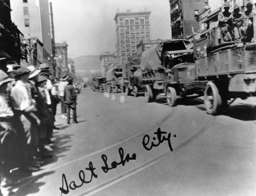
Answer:
[[[229,2],[226,1],[223,5],[223,12],[220,12],[218,15],[218,21],[219,21],[219,30],[218,30],[218,41],[219,44],[221,44],[221,36],[220,33],[222,34],[222,37],[225,41],[231,41],[233,40],[232,32],[231,32],[231,12],[229,12]]]

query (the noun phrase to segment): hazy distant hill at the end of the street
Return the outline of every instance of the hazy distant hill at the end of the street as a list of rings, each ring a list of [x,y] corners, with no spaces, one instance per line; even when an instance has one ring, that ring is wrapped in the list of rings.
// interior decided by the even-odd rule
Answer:
[[[76,72],[95,72],[100,70],[100,55],[73,58]]]

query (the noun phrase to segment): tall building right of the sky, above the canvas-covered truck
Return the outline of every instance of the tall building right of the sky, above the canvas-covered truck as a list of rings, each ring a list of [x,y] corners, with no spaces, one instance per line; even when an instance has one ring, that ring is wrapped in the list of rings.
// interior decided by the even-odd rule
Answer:
[[[170,0],[172,38],[188,38],[199,30],[196,18],[208,5],[208,0]]]

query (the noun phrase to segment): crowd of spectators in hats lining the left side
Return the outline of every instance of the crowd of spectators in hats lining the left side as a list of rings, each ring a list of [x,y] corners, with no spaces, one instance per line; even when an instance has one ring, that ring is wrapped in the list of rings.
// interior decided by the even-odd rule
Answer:
[[[38,171],[52,158],[52,140],[57,104],[70,124],[76,120],[76,95],[71,76],[56,81],[43,63],[21,68],[13,64],[7,72],[0,70],[0,179],[1,187],[21,182],[18,173]],[[66,115],[65,113],[68,113]],[[0,190],[1,195],[1,190]]]

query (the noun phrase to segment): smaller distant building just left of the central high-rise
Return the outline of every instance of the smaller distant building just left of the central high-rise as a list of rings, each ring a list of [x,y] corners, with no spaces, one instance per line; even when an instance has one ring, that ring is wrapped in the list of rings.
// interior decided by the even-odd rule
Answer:
[[[111,66],[117,66],[118,64],[117,55],[111,52],[102,53],[100,55],[100,61],[101,75],[103,76]]]

